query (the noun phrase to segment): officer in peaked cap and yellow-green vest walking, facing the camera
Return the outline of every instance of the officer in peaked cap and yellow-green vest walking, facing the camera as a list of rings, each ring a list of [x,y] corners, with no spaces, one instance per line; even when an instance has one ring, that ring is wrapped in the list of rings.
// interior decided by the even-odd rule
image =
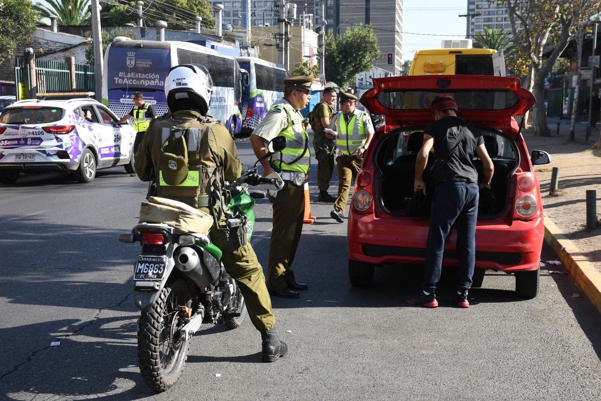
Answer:
[[[351,180],[355,180],[361,168],[363,155],[374,135],[374,127],[370,116],[355,107],[355,95],[341,92],[338,99],[340,111],[332,118],[328,127],[338,134],[336,147],[340,152],[340,156],[336,158],[338,197],[330,216],[341,223],[344,221]],[[334,138],[332,133],[326,132],[326,135]]]

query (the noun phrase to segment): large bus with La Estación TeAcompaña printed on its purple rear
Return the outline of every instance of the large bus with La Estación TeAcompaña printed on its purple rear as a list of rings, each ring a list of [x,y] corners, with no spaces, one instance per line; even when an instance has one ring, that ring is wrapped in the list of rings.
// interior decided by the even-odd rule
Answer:
[[[165,78],[180,64],[203,64],[213,79],[209,115],[223,123],[232,135],[240,132],[242,73],[233,57],[183,41],[130,40],[118,37],[106,47],[102,102],[119,117],[133,107],[132,94],[144,95],[157,115],[168,109]]]

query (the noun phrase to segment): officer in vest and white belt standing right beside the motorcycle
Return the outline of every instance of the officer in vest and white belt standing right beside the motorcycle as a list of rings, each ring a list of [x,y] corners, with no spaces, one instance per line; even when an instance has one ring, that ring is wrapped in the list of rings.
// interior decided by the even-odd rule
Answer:
[[[263,176],[272,173],[272,162],[281,170],[284,188],[277,193],[270,191],[273,204],[273,229],[269,245],[269,270],[267,289],[272,295],[297,298],[297,290],[308,289],[307,284],[297,283],[291,269],[296,247],[301,239],[305,213],[304,184],[309,180],[309,136],[298,112],[309,104],[313,76],[293,76],[284,79],[284,98],[273,103],[265,118],[252,132],[250,141],[257,158],[265,155],[267,142],[276,136],[284,136],[287,145],[272,161],[264,159]]]

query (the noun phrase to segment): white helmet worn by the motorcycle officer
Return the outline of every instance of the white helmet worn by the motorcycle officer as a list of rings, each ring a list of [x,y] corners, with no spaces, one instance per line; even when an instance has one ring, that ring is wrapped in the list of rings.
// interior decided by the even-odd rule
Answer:
[[[171,112],[198,110],[207,115],[213,92],[209,70],[201,64],[172,67],[165,78],[165,96]]]

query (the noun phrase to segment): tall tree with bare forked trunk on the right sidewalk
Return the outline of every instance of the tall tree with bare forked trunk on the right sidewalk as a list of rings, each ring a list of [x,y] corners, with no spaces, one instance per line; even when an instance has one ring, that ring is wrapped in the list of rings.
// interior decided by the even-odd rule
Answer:
[[[601,1],[502,0],[498,4],[507,7],[515,46],[508,66],[517,73],[527,71],[526,88],[536,99],[545,99],[545,81],[555,61],[581,22],[599,13]],[[540,136],[551,136],[545,102],[536,102],[533,109],[535,131]]]

